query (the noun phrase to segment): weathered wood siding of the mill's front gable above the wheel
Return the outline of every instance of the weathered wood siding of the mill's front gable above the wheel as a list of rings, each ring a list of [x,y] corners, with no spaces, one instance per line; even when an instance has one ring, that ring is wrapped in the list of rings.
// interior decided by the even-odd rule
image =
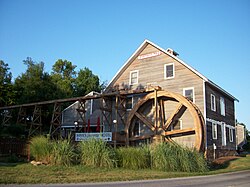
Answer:
[[[145,55],[159,51],[154,46],[148,44],[139,55]],[[138,55],[138,56],[139,56]],[[175,77],[165,79],[164,65],[173,63]],[[137,70],[139,72],[138,84],[130,85],[130,72]],[[183,88],[194,88],[195,104],[204,112],[203,102],[203,80],[182,65],[171,56],[162,53],[159,56],[146,59],[135,58],[128,67],[124,68],[117,78],[109,85],[107,90],[111,91],[112,87],[119,89],[140,89],[148,85],[161,86],[164,90],[183,94]]]

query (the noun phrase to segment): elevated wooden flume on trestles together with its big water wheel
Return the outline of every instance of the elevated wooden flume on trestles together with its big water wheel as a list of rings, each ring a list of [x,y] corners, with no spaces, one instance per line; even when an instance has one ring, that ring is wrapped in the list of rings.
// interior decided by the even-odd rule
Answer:
[[[126,115],[126,97],[128,95],[136,94],[146,94],[143,98],[133,106],[132,110]],[[115,98],[115,103],[112,104],[112,98]],[[19,109],[17,121],[21,122],[21,119],[25,118],[25,108],[34,107],[33,110],[33,121],[30,124],[29,136],[37,134],[41,131],[42,119],[41,111],[43,105],[54,105],[54,111],[52,115],[52,120],[50,124],[50,134],[53,135],[57,133],[61,127],[61,104],[69,102],[80,102],[80,107],[77,112],[80,114],[82,121],[85,121],[85,101],[90,99],[101,99],[100,110],[103,115],[103,120],[109,126],[109,130],[112,129],[112,125],[115,125],[114,132],[114,146],[117,144],[117,140],[124,142],[123,144],[130,145],[131,142],[137,140],[143,140],[151,138],[152,142],[165,142],[174,141],[174,137],[185,137],[193,135],[195,137],[193,146],[199,150],[204,151],[204,141],[205,141],[205,131],[204,131],[204,119],[199,108],[190,100],[184,96],[161,90],[160,87],[154,87],[150,89],[142,90],[123,90],[115,91],[112,93],[103,93],[95,96],[85,96],[77,98],[59,99],[52,101],[44,101],[37,103],[28,103],[23,105],[14,105],[0,107],[0,111],[4,111],[4,116],[2,124],[9,123],[9,118],[13,109]],[[171,115],[166,116],[166,110],[168,110],[168,102],[175,103],[175,108],[171,112]],[[150,113],[150,112],[151,113]],[[171,129],[182,116],[188,113],[193,123],[191,126],[184,127],[182,129]],[[149,117],[150,116],[150,117]],[[115,119],[116,124],[113,124],[113,119]],[[145,133],[141,136],[133,135],[133,129],[135,127],[135,120],[139,120],[149,129],[150,133]],[[24,120],[25,121],[25,120]],[[26,122],[25,122],[26,123]],[[120,123],[120,124],[119,124]],[[119,137],[117,132],[117,126],[122,125],[124,127],[125,136],[123,140]],[[83,124],[83,128],[86,128],[86,124]]]

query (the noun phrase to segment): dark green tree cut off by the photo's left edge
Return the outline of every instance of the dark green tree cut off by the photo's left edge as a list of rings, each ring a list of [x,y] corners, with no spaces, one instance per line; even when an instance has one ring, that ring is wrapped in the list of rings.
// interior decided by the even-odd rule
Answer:
[[[0,60],[0,106],[11,105],[15,102],[15,94],[11,83],[12,74],[7,63]]]

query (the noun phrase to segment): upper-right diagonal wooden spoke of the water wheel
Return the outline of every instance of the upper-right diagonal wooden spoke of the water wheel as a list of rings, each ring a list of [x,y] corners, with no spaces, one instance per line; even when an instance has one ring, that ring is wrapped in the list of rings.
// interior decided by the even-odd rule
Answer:
[[[174,112],[171,114],[171,116],[168,118],[166,123],[163,126],[164,130],[167,130],[172,124],[175,124],[178,119],[183,115],[183,113],[186,111],[186,107],[182,104],[179,103]]]

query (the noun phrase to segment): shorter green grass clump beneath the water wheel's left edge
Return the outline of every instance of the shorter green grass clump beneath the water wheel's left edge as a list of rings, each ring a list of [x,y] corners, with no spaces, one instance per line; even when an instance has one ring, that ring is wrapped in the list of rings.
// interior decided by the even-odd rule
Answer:
[[[127,169],[150,168],[150,150],[143,147],[121,147],[117,150],[119,167]]]

